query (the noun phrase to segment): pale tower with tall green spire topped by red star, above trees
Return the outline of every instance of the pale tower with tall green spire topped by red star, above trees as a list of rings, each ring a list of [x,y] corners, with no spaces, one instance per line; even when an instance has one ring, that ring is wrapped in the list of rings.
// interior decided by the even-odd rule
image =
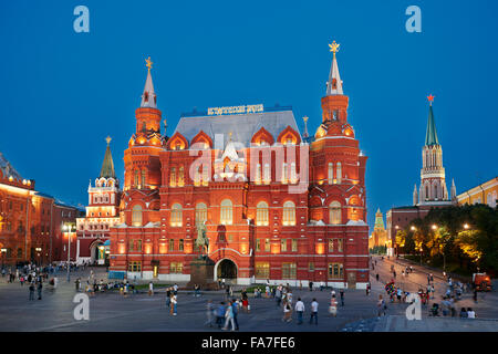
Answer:
[[[437,138],[436,119],[433,111],[434,96],[427,96],[429,102],[425,144],[422,148],[421,186],[413,194],[414,205],[447,204],[445,168],[443,167],[443,148]]]

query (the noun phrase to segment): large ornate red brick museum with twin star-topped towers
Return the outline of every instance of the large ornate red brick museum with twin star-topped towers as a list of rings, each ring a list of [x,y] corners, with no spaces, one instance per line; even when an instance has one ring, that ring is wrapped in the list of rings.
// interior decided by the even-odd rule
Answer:
[[[338,46],[313,137],[307,127],[301,135],[290,107],[262,105],[184,114],[166,137],[149,67],[124,153],[111,271],[188,281],[204,223],[215,278],[364,288],[366,156],[347,123]]]

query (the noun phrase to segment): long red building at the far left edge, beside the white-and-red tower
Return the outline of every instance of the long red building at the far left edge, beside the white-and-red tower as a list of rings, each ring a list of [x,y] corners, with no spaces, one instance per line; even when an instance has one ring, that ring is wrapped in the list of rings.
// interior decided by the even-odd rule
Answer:
[[[64,260],[62,223],[75,223],[79,208],[34,190],[0,153],[0,251],[2,264]],[[66,257],[66,254],[65,254]]]

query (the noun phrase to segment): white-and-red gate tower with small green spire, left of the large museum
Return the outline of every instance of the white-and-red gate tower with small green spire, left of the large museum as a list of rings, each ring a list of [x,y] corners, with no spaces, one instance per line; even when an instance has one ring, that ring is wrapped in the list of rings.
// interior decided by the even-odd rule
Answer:
[[[110,253],[110,228],[121,222],[120,180],[114,171],[111,154],[111,137],[106,138],[107,148],[101,174],[95,179],[95,186],[89,186],[89,206],[86,215],[76,220],[77,241],[75,247],[76,262],[105,264]]]

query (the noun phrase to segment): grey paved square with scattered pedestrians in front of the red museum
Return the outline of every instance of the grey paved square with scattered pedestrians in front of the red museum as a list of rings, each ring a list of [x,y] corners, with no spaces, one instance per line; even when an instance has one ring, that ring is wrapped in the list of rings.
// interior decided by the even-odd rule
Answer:
[[[371,271],[372,293],[366,295],[364,290],[345,290],[345,306],[339,308],[338,316],[332,317],[328,313],[330,302],[330,289],[312,291],[308,289],[293,289],[294,303],[301,298],[305,304],[304,323],[298,325],[294,319],[291,323],[281,321],[283,312],[277,308],[274,299],[253,299],[250,294],[249,303],[251,312],[239,313],[238,322],[240,331],[350,331],[350,332],[382,332],[382,331],[497,331],[498,325],[494,319],[498,319],[495,306],[497,295],[492,293],[479,293],[478,303],[474,303],[471,293],[464,295],[457,303],[460,306],[473,306],[479,319],[469,324],[458,317],[428,319],[428,306],[423,306],[422,321],[407,321],[405,317],[406,304],[388,303],[387,316],[376,317],[376,301],[378,294],[386,298],[384,283],[390,281],[390,268],[395,264],[396,272],[401,274],[403,263],[392,260],[377,259],[375,270]],[[417,291],[426,284],[426,269],[414,267],[414,273],[403,281],[406,291]],[[96,279],[106,279],[104,269],[95,269]],[[194,296],[189,291],[178,293],[178,315],[169,314],[165,304],[164,289],[157,290],[153,296],[147,293],[129,294],[126,298],[118,291],[96,293],[90,296],[90,320],[76,321],[73,317],[73,303],[75,295],[74,280],[81,277],[86,280],[90,270],[72,273],[68,283],[65,274],[59,274],[59,285],[55,290],[44,287],[43,299],[29,301],[28,287],[21,287],[19,282],[7,283],[7,278],[0,279],[0,331],[126,331],[126,332],[157,332],[157,331],[215,331],[217,327],[205,325],[207,320],[206,304],[212,300],[215,304],[224,301],[222,291],[204,292],[201,296]],[[380,274],[380,281],[375,274]],[[446,290],[446,283],[442,274],[435,275],[436,300]],[[400,280],[400,275],[397,280]],[[179,284],[181,287],[181,284]],[[338,296],[339,296],[339,291]],[[239,293],[235,293],[235,296]],[[319,306],[319,324],[309,324],[310,303],[317,298]],[[435,322],[436,321],[436,322]],[[481,323],[481,324],[479,324]],[[455,327],[455,329],[454,329]]]

